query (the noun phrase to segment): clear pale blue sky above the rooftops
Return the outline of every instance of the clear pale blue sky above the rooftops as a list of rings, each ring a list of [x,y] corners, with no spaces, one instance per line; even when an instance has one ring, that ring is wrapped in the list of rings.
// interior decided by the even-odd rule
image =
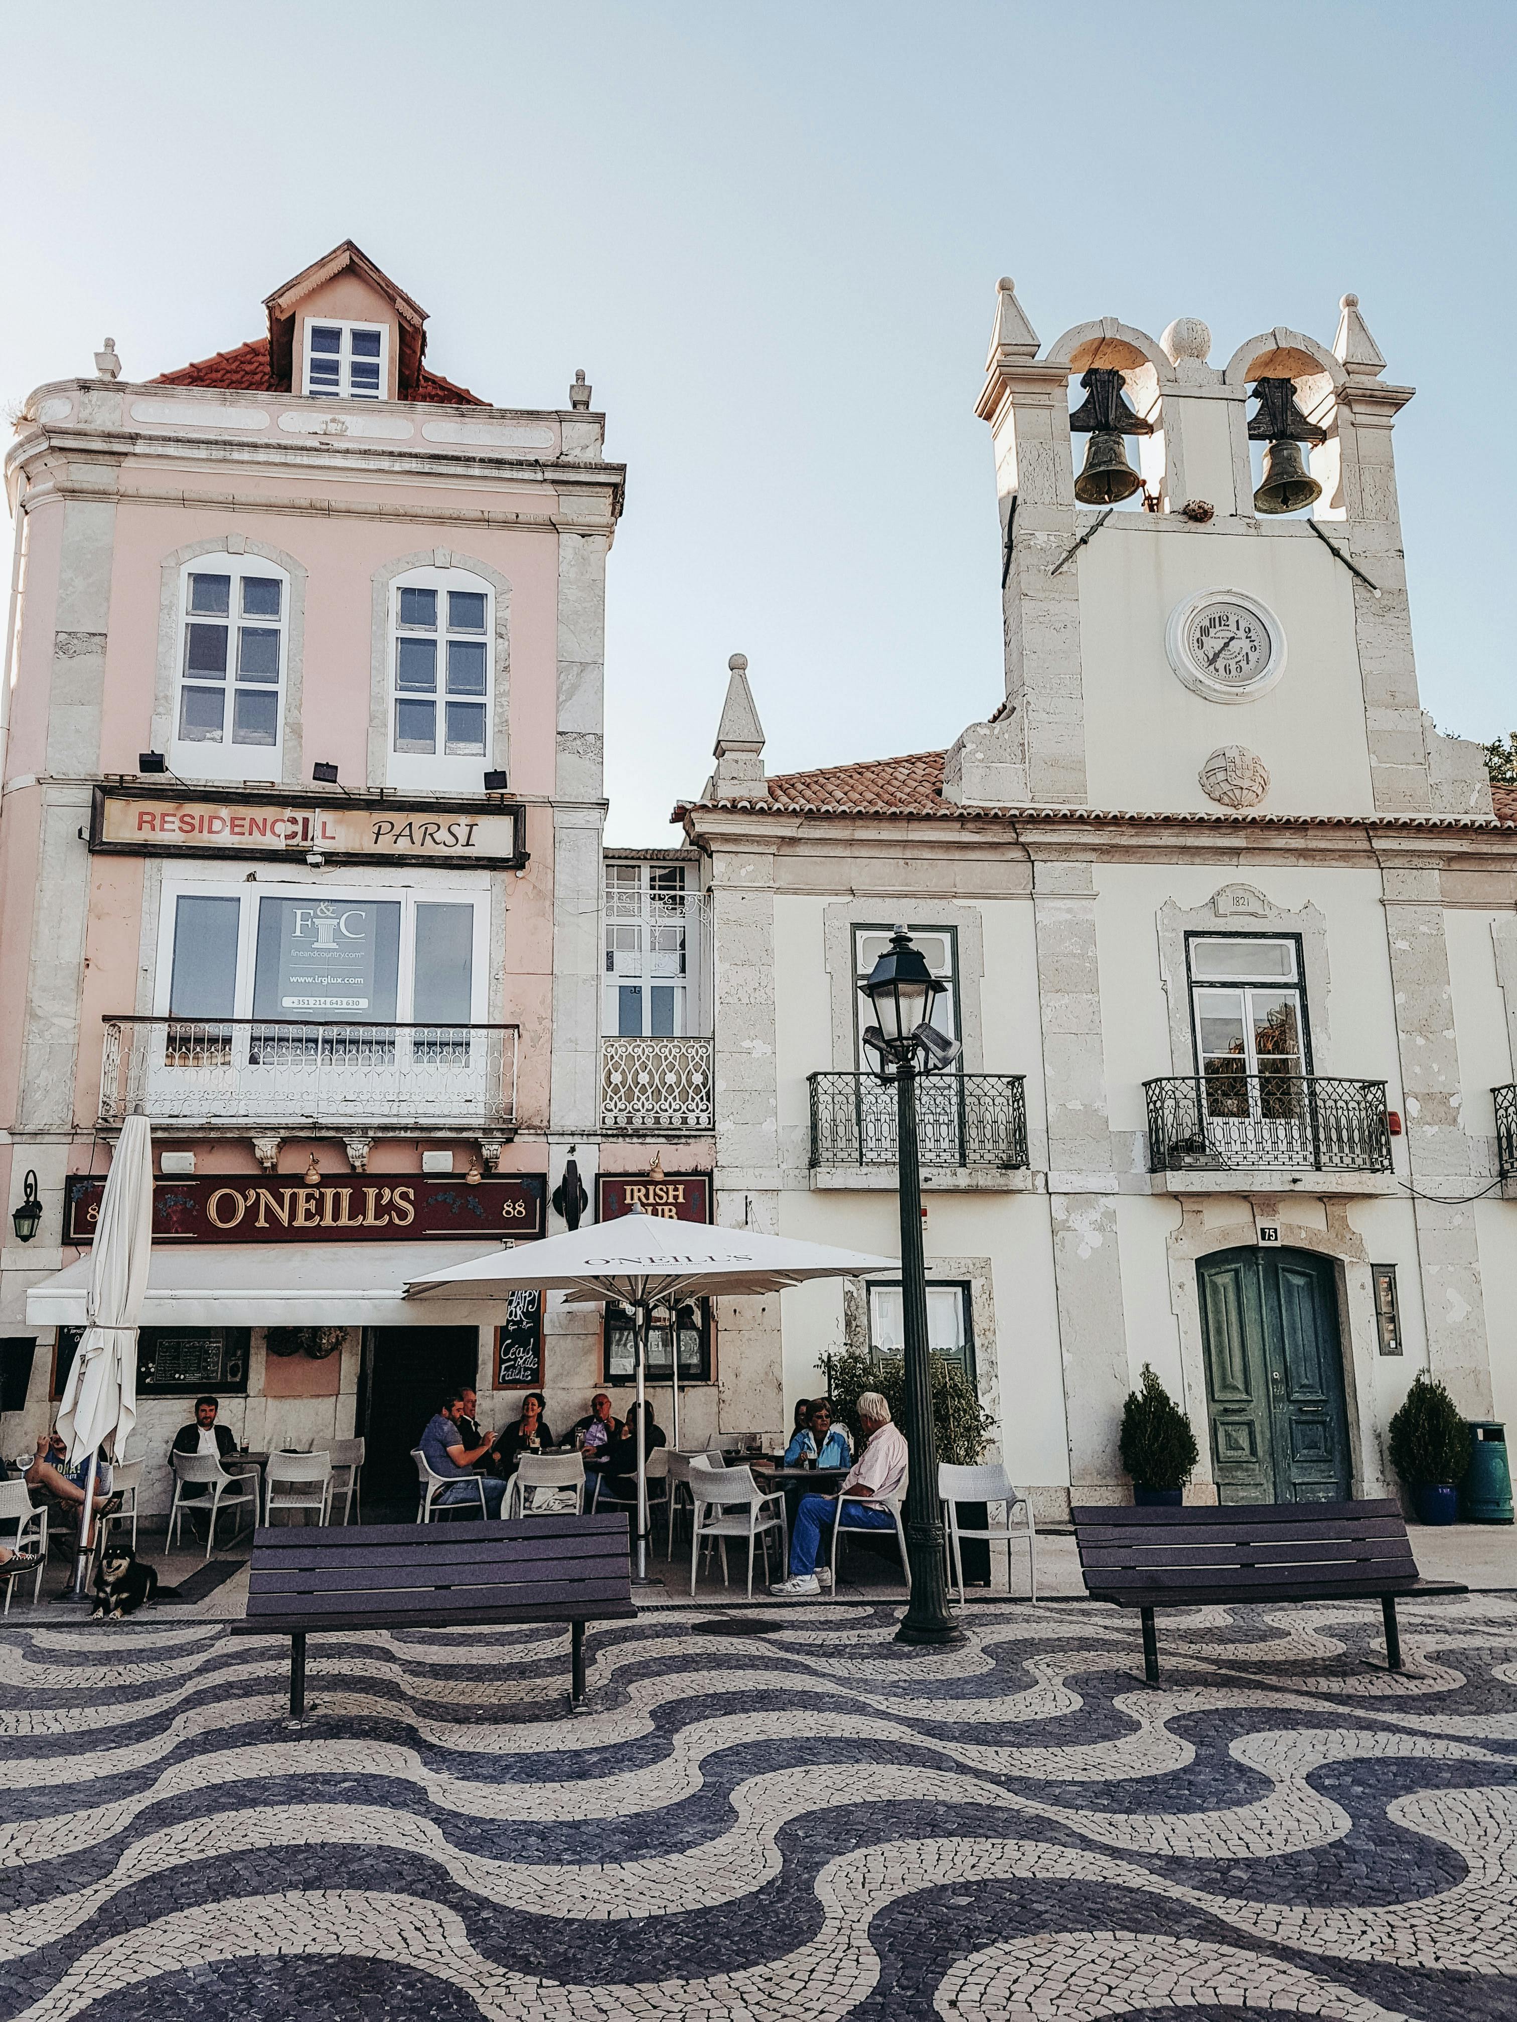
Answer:
[[[995,279],[1044,342],[1201,315],[1214,362],[1359,293],[1396,429],[1424,704],[1517,724],[1517,8],[20,6],[0,63],[0,394],[259,336],[356,239],[429,364],[574,366],[629,465],[609,570],[617,841],[674,841],[728,653],[767,764],[951,742],[1001,698],[975,421]]]

